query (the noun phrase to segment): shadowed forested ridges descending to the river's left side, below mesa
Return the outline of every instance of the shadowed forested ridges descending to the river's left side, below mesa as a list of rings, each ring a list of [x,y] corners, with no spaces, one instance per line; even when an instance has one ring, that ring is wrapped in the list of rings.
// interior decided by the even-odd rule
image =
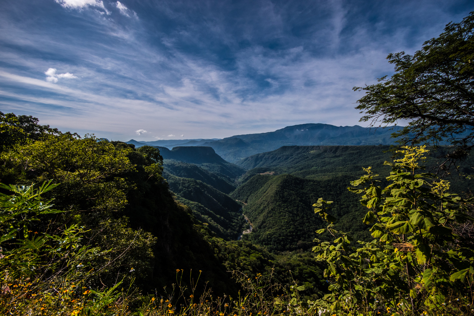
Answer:
[[[226,193],[235,190],[235,178],[245,170],[226,162],[210,147],[155,148],[166,158],[163,175],[176,199],[217,236],[235,240],[245,221],[241,206]]]

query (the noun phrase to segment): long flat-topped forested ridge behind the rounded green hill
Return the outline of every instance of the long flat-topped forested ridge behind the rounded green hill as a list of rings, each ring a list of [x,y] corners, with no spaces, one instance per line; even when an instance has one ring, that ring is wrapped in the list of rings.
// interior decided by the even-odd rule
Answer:
[[[436,172],[440,163],[445,159],[448,146],[430,148],[426,160],[427,170]],[[273,172],[274,174],[289,173],[307,179],[323,179],[333,175],[350,174],[359,177],[364,173],[363,167],[372,167],[375,173],[386,174],[390,167],[383,165],[385,161],[393,161],[397,153],[391,146],[283,146],[267,153],[259,153],[247,157],[237,164],[249,169],[237,179],[243,183],[255,174]],[[473,172],[474,159],[470,155],[459,163],[460,171],[464,174]],[[354,178],[354,179],[356,179]],[[464,177],[459,177],[457,172],[447,175],[456,190],[466,190]],[[463,184],[464,183],[464,184]],[[470,183],[470,182],[469,182]]]

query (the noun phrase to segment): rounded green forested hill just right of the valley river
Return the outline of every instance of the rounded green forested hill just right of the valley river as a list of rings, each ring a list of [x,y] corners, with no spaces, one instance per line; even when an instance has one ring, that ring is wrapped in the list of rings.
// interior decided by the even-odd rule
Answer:
[[[335,176],[316,181],[289,174],[253,177],[236,190],[247,193],[257,189],[248,196],[240,196],[242,199],[247,197],[243,211],[254,224],[254,231],[244,238],[270,250],[311,248],[314,232],[323,227],[312,208],[320,197],[334,201],[332,215],[339,218],[338,226],[353,232],[359,239],[369,238],[369,226],[358,224],[360,221],[357,225],[352,223],[354,217],[363,217],[365,210],[359,197],[346,190],[350,180],[347,176]],[[252,189],[246,190],[246,187]],[[237,192],[235,194],[233,197],[237,197]]]

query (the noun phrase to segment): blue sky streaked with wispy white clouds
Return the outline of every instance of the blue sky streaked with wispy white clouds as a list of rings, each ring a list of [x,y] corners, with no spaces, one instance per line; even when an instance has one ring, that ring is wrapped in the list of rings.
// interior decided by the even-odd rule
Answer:
[[[354,107],[470,0],[0,0],[0,111],[109,140],[224,138]]]

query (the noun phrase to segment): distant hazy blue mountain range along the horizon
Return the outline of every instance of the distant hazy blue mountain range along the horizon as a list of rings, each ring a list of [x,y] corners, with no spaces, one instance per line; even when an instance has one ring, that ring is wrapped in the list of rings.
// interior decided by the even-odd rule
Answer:
[[[173,148],[176,146],[209,146],[222,158],[231,163],[254,155],[290,145],[388,145],[395,139],[391,134],[401,126],[368,128],[355,126],[334,126],[329,124],[301,124],[286,126],[273,132],[234,135],[223,139],[158,140],[138,142],[129,140],[135,146],[152,145]]]

